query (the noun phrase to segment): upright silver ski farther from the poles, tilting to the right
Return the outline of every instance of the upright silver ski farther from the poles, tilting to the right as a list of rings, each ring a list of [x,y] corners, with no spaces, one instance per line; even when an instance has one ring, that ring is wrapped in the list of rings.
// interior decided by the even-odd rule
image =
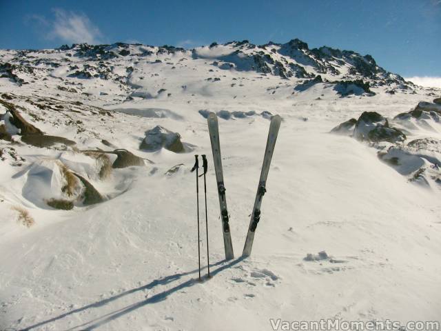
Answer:
[[[253,247],[254,233],[256,232],[257,224],[260,221],[260,204],[262,203],[263,194],[267,192],[265,186],[267,184],[267,177],[269,172],[269,165],[273,157],[274,147],[276,146],[278,129],[282,119],[279,115],[271,117],[271,124],[269,124],[269,132],[267,139],[267,147],[265,148],[265,156],[263,157],[262,170],[260,171],[260,179],[257,187],[256,199],[254,200],[253,212],[251,220],[249,221],[247,239],[243,248],[243,257],[249,257]]]

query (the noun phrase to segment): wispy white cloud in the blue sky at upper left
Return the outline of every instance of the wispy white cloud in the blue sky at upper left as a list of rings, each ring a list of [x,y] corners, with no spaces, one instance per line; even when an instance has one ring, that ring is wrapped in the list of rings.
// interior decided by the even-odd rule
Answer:
[[[49,39],[60,39],[66,43],[99,43],[102,37],[99,28],[82,13],[54,9],[55,19],[50,24]]]

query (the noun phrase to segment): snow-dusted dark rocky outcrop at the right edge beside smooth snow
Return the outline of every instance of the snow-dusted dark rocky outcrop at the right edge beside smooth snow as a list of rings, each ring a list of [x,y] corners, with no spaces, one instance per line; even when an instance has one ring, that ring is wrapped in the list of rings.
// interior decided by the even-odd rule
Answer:
[[[411,183],[426,187],[441,184],[441,141],[435,138],[414,139],[405,144],[404,130],[416,129],[420,125],[425,130],[435,131],[440,123],[440,113],[436,103],[420,102],[413,110],[403,112],[391,121],[378,112],[363,112],[356,119],[341,123],[332,133],[345,134],[360,141],[368,141],[378,149],[378,158],[397,172],[407,177]],[[432,119],[431,127],[429,119]],[[404,129],[391,126],[403,127]],[[439,127],[438,127],[439,128]]]

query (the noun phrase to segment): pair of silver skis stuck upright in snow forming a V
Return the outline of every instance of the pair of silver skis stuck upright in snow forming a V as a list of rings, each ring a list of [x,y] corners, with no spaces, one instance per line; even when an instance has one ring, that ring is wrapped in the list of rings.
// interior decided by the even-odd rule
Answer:
[[[258,222],[260,221],[260,204],[262,203],[263,194],[265,194],[265,192],[267,191],[266,183],[269,172],[269,165],[271,164],[274,147],[276,146],[276,140],[281,121],[282,119],[278,115],[271,117],[271,123],[269,125],[269,132],[267,139],[267,147],[265,148],[265,156],[263,158],[262,170],[260,171],[260,179],[258,183],[256,199],[254,200],[254,207],[251,215],[251,220],[249,221],[247,239],[245,240],[245,246],[243,248],[243,253],[242,253],[243,257],[249,257],[249,255],[251,254],[253,241],[254,241],[254,233],[256,232]],[[208,115],[208,130],[209,130],[209,138],[212,143],[214,169],[216,172],[216,181],[218,184],[218,196],[219,196],[219,204],[220,204],[220,217],[222,219],[225,259],[230,260],[230,259],[234,259],[234,252],[233,252],[232,237],[229,228],[229,215],[227,210],[227,198],[225,196],[225,185],[223,182],[218,118],[214,112],[211,112]]]

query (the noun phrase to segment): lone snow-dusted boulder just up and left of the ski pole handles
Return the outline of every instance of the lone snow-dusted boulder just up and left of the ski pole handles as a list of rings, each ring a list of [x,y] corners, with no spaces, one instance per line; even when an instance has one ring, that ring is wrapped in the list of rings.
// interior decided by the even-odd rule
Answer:
[[[186,152],[185,146],[181,142],[181,135],[162,126],[156,126],[152,130],[147,130],[139,148],[148,152],[161,150],[161,148],[175,153]]]

